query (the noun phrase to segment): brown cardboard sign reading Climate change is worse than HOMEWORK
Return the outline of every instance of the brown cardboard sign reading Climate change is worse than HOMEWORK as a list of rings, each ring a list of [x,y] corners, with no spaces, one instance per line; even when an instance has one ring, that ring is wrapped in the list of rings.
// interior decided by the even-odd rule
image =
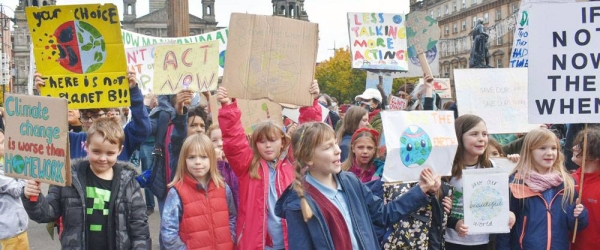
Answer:
[[[4,174],[71,185],[67,100],[6,94]]]

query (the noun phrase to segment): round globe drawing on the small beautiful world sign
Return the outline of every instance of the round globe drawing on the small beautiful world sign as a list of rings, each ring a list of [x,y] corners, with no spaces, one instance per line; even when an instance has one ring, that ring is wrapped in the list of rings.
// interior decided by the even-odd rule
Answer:
[[[478,220],[491,220],[502,211],[502,195],[493,187],[480,186],[473,190],[469,206]]]

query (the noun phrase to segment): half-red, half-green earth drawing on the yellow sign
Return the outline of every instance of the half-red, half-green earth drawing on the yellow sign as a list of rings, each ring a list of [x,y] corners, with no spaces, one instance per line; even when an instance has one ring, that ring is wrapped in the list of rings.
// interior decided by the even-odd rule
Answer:
[[[106,60],[102,34],[83,21],[69,21],[54,31],[59,51],[58,63],[73,73],[91,73]]]

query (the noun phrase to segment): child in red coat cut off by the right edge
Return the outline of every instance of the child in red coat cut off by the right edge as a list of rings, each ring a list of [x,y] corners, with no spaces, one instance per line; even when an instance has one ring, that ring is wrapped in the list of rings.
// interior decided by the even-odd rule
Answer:
[[[572,160],[577,166],[583,164],[583,135],[584,131],[579,132],[573,141]],[[575,243],[571,244],[572,250],[597,249],[600,246],[600,127],[589,127],[587,136],[585,171],[577,169],[573,178],[576,182],[580,181],[582,174],[585,178],[581,204],[588,208],[588,227],[577,231]]]

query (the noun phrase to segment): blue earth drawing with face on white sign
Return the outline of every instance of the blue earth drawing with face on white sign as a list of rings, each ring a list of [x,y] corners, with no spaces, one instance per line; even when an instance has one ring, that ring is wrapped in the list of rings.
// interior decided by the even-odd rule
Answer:
[[[400,159],[408,168],[423,165],[431,154],[431,148],[429,135],[419,126],[408,126],[400,137]]]

